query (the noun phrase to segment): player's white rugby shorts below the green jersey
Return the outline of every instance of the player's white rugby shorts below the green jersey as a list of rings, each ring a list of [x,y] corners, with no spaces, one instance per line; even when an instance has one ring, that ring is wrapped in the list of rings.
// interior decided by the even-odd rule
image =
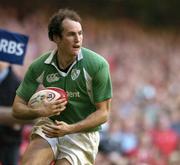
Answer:
[[[31,137],[38,134],[50,144],[55,159],[66,158],[72,165],[93,165],[98,152],[99,132],[68,134],[58,138],[48,138],[41,126],[51,123],[49,118],[41,118],[34,125]]]

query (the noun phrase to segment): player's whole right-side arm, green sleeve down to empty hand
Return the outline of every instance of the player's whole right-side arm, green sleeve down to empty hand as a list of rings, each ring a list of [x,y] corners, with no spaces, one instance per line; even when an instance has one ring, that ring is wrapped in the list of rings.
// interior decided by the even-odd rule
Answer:
[[[112,98],[112,85],[109,73],[109,65],[107,62],[103,62],[98,68],[93,77],[93,93],[94,100],[96,102],[96,111],[90,114],[84,120],[77,122],[75,124],[67,124],[62,121],[56,121],[55,125],[45,125],[43,126],[43,132],[48,137],[57,137],[64,136],[66,134],[84,132],[91,128],[97,127],[108,120],[110,113],[110,104]],[[106,99],[104,101],[101,97],[103,96]]]

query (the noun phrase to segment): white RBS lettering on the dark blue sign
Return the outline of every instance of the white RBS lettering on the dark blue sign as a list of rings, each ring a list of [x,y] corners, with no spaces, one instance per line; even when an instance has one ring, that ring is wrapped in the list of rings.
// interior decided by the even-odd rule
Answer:
[[[0,39],[0,52],[8,53],[8,54],[15,54],[17,56],[22,56],[24,51],[24,44],[17,43],[12,40],[7,39]]]

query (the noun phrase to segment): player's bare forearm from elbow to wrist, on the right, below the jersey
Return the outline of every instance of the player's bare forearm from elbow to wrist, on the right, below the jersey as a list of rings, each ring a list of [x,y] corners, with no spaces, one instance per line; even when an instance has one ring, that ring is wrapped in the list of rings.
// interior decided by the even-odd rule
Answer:
[[[88,129],[94,128],[100,124],[105,123],[108,120],[108,110],[97,110],[88,116],[86,119],[72,124],[70,133],[84,132]]]

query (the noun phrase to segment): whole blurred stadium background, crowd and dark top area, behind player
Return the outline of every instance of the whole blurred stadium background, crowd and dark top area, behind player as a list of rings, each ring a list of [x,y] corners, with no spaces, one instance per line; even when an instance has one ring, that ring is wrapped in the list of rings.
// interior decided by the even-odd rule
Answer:
[[[82,16],[84,46],[111,67],[112,113],[96,165],[180,164],[180,1],[0,0],[0,28],[30,37],[24,65],[13,66],[21,78],[34,58],[54,47],[47,22],[64,7]]]

